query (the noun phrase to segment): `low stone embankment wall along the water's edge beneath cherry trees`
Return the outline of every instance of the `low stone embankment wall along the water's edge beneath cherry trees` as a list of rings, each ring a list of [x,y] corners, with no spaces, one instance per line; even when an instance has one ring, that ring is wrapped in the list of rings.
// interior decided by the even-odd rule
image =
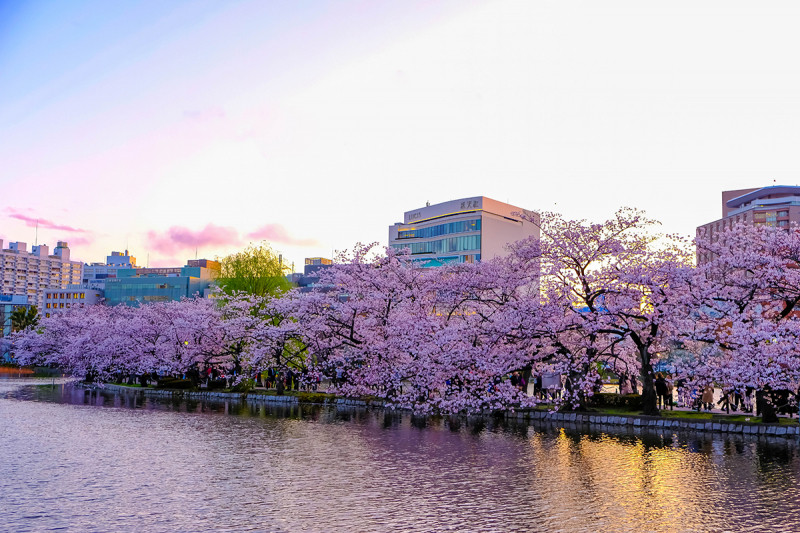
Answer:
[[[215,391],[181,391],[161,389],[139,389],[121,385],[103,385],[109,390],[124,390],[136,392],[145,396],[162,398],[181,398],[191,400],[228,401],[265,403],[272,405],[300,405],[324,404],[344,408],[373,408],[383,409],[381,400],[361,400],[356,398],[329,398],[325,401],[308,401],[297,396],[273,396],[258,393],[235,393]],[[486,411],[483,416],[497,416],[497,413]],[[539,409],[520,409],[514,412],[507,411],[502,416],[508,420],[519,422],[550,422],[565,426],[603,429],[605,427],[637,429],[669,429],[673,431],[698,431],[704,433],[730,433],[740,435],[766,435],[782,437],[800,436],[799,425],[762,424],[758,422],[726,422],[725,420],[691,420],[680,418],[662,418],[640,415],[604,415],[600,413],[560,413]]]

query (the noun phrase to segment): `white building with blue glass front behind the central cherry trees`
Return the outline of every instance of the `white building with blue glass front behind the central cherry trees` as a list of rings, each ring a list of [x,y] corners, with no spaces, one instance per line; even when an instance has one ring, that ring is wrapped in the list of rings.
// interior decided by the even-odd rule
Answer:
[[[509,243],[539,237],[536,224],[514,215],[523,212],[538,220],[535,213],[485,196],[427,205],[389,226],[389,246],[410,248],[423,267],[504,256]]]

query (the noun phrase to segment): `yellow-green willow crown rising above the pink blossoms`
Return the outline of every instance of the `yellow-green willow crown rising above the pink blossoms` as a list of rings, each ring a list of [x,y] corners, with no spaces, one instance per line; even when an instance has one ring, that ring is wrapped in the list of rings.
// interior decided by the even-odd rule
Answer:
[[[241,252],[223,257],[220,264],[217,285],[228,295],[246,292],[274,296],[292,286],[286,279],[290,269],[266,242],[251,244]]]

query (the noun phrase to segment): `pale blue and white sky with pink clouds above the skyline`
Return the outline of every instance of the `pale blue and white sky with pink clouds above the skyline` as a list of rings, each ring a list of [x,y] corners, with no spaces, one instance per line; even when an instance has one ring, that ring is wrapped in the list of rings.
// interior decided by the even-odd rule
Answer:
[[[0,0],[0,239],[180,266],[471,196],[686,236],[800,183],[800,4]],[[38,230],[37,230],[38,221]]]

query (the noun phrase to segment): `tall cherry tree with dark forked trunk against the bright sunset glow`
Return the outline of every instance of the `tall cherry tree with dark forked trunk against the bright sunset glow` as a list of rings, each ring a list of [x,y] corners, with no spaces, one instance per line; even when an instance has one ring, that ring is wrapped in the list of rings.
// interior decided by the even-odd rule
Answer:
[[[603,223],[556,213],[522,216],[541,236],[512,251],[541,266],[547,318],[536,322],[546,325],[539,335],[551,350],[542,360],[568,376],[568,401],[585,404],[598,388],[598,363],[606,363],[617,372],[636,371],[643,411],[657,414],[652,364],[670,338],[689,266],[685,244],[655,233],[657,222],[634,209]]]

